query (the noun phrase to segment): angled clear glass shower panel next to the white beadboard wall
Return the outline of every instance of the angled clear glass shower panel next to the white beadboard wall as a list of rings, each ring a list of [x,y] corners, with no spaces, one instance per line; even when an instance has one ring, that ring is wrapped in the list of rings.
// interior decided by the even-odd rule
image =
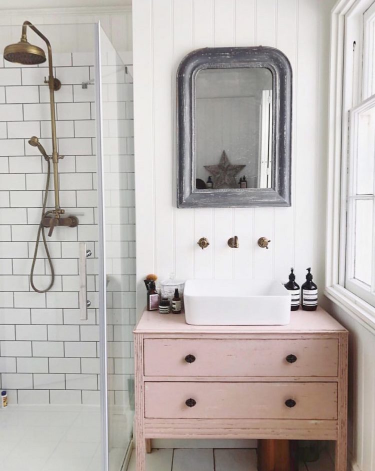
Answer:
[[[135,324],[132,78],[96,25],[99,312],[104,470],[119,471],[132,437]]]

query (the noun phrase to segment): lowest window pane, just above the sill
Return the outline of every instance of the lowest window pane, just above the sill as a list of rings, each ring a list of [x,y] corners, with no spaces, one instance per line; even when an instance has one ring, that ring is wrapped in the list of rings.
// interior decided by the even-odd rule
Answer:
[[[355,201],[354,278],[371,285],[372,200]]]

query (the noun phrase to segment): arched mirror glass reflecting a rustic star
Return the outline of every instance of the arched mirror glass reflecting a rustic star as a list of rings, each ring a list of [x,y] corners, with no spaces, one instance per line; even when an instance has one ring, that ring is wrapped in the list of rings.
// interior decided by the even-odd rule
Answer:
[[[272,73],[205,68],[195,81],[195,187],[271,188]]]

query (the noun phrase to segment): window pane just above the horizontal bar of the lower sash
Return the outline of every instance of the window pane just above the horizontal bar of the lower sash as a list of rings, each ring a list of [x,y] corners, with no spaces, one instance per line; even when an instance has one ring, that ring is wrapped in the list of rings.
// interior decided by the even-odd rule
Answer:
[[[375,155],[375,106],[358,114],[356,194],[373,193]]]

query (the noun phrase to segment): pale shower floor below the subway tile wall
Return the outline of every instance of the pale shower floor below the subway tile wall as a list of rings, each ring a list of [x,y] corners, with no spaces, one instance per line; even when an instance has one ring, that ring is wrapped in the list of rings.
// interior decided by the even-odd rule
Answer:
[[[112,416],[122,448],[110,451],[110,469],[124,455],[123,416]],[[115,430],[114,430],[115,429]],[[122,437],[122,440],[120,440]],[[8,406],[0,409],[0,471],[100,471],[100,410],[95,406]]]

